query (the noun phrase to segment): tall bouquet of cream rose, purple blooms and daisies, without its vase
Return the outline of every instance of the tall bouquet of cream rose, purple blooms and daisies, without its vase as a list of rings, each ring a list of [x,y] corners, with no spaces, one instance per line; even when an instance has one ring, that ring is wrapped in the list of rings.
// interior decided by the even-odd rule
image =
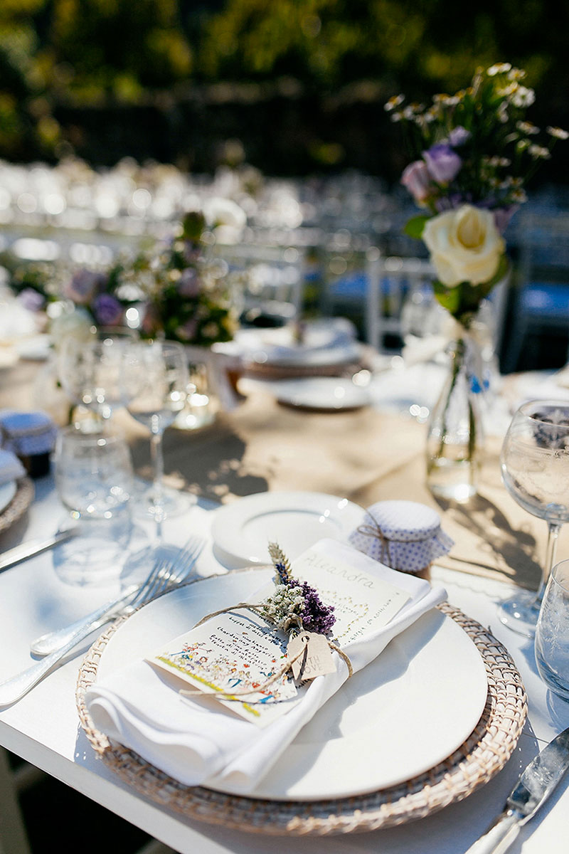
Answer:
[[[548,143],[536,142],[540,130],[525,119],[535,93],[524,78],[522,69],[499,62],[429,106],[405,105],[403,95],[386,103],[413,158],[401,182],[425,210],[404,231],[426,243],[435,296],[466,328],[508,271],[502,236],[526,201],[526,184],[556,140],[569,136],[549,126]]]

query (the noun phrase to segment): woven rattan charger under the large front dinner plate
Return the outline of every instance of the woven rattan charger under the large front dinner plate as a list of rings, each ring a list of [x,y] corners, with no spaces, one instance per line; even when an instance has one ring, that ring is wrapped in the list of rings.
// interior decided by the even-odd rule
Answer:
[[[96,640],[79,670],[77,704],[81,724],[102,761],[121,780],[155,803],[190,818],[249,833],[303,836],[347,834],[404,824],[462,800],[490,781],[514,752],[527,712],[520,673],[506,648],[462,611],[447,602],[438,607],[466,631],[484,659],[488,679],[485,710],[473,733],[456,752],[398,786],[351,798],[311,802],[226,795],[205,787],[184,786],[135,752],[109,742],[90,719],[84,694],[96,681],[108,640],[128,617],[117,620]]]

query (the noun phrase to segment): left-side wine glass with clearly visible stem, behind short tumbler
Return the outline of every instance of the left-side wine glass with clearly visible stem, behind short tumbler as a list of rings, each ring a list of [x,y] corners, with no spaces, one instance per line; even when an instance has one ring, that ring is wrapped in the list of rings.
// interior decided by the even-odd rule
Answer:
[[[151,434],[154,477],[145,512],[160,523],[176,503],[164,491],[162,436],[186,402],[189,371],[183,346],[168,341],[131,344],[124,376],[128,395],[126,408]]]

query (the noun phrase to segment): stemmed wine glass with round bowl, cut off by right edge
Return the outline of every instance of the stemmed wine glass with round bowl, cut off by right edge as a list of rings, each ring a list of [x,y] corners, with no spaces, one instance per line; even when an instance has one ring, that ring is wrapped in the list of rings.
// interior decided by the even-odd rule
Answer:
[[[533,637],[560,527],[569,521],[569,401],[526,401],[508,427],[500,462],[509,494],[524,510],[548,524],[537,594],[520,591],[500,606],[502,623],[520,635]]]

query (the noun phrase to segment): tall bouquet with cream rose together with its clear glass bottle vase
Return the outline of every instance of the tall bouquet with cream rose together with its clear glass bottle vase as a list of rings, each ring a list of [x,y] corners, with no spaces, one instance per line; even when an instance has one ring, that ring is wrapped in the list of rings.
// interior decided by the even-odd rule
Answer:
[[[482,301],[508,273],[504,231],[537,167],[566,131],[547,143],[526,120],[534,91],[508,62],[478,70],[455,95],[429,105],[392,97],[386,110],[404,129],[412,161],[401,181],[423,213],[404,231],[421,238],[433,264],[434,295],[455,323],[451,371],[431,413],[427,479],[435,494],[466,500],[476,492],[482,433],[476,395],[483,383],[474,331]]]

